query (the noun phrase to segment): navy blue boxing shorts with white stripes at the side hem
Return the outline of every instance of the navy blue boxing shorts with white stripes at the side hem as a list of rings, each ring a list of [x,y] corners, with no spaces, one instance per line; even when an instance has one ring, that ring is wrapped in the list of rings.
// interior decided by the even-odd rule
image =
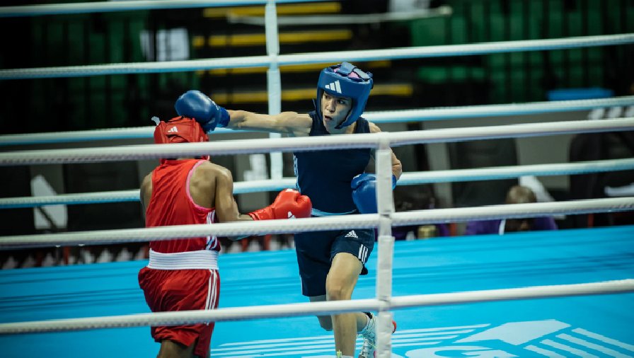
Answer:
[[[373,248],[374,229],[296,233],[301,294],[309,297],[325,294],[325,278],[330,271],[330,263],[338,253],[350,253],[359,258],[363,265],[361,275],[367,275],[365,263]]]

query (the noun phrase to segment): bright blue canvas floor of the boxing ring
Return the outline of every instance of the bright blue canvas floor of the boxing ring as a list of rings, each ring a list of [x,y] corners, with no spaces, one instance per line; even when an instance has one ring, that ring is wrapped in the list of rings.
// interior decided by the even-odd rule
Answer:
[[[146,261],[0,271],[0,322],[146,313]],[[305,302],[293,250],[220,256],[220,307]],[[374,296],[370,275],[354,298]],[[634,226],[398,241],[393,296],[634,278]],[[394,311],[393,357],[634,357],[634,294]],[[360,342],[360,341],[359,341]],[[3,357],[155,357],[149,328],[1,335]],[[316,318],[221,322],[212,357],[333,357]]]

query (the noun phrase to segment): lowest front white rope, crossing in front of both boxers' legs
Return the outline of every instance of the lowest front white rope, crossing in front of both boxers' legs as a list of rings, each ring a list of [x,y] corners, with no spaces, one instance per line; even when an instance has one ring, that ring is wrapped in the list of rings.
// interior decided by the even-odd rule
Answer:
[[[549,286],[521,287],[513,289],[488,289],[446,294],[422,294],[392,297],[391,301],[355,299],[350,301],[323,301],[304,304],[279,304],[217,308],[211,311],[176,311],[139,313],[127,316],[102,316],[0,323],[0,334],[42,333],[97,328],[125,328],[146,325],[189,325],[219,321],[247,319],[313,316],[316,314],[376,311],[413,306],[439,306],[519,299],[541,299],[563,296],[587,296],[596,294],[622,294],[634,291],[634,279],[620,279],[584,284],[557,284]]]

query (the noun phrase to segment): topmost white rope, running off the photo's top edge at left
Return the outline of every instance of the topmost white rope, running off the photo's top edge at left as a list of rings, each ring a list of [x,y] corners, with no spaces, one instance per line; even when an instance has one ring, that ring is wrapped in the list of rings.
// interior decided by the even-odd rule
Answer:
[[[275,0],[281,3],[298,3],[325,0]],[[46,4],[25,6],[1,6],[0,18],[18,16],[59,15],[64,13],[104,13],[112,11],[166,10],[173,8],[202,8],[217,6],[264,5],[268,0],[126,0],[96,1],[75,4]]]

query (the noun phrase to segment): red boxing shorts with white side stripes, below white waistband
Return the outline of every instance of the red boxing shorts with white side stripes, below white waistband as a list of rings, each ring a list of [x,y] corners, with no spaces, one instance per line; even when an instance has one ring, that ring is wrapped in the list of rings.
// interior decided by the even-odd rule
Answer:
[[[218,270],[154,270],[143,267],[139,271],[139,286],[152,312],[218,308]],[[194,354],[200,357],[207,357],[213,331],[214,322],[151,328],[156,342],[171,340],[185,347],[196,342]]]

